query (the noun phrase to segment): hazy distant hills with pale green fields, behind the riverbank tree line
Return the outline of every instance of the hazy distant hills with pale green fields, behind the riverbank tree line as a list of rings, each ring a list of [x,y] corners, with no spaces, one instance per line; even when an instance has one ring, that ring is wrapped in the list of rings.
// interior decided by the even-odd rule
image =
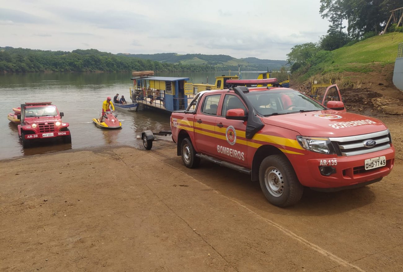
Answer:
[[[261,60],[258,58],[233,58],[228,55],[204,55],[204,54],[185,54],[177,53],[159,53],[159,54],[127,54],[117,55],[139,58],[143,60],[153,60],[161,63],[170,64],[204,64],[214,66],[232,66],[241,65],[243,71],[262,71],[262,70],[280,70],[287,65],[286,60]]]

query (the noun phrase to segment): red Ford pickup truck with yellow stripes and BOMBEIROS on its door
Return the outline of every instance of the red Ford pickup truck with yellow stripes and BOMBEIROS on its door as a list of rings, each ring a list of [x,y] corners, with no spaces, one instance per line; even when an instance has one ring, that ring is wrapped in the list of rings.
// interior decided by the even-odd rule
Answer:
[[[380,181],[395,161],[381,121],[283,87],[203,91],[185,111],[174,111],[170,124],[187,167],[207,159],[250,174],[281,207],[299,201],[304,186],[338,191]]]

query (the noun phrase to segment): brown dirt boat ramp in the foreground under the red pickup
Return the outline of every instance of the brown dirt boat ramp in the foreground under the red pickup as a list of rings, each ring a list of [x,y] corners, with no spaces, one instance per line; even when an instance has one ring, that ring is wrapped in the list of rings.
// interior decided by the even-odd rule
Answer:
[[[173,143],[0,162],[0,271],[403,271],[403,164],[364,188],[270,205]]]

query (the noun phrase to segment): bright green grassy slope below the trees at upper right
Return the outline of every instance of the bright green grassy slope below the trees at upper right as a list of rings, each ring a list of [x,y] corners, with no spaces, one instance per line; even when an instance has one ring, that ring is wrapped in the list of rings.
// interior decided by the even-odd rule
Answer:
[[[323,64],[325,72],[368,72],[372,64],[395,62],[398,44],[403,42],[403,33],[388,33],[371,37],[351,46],[334,50],[334,62]]]

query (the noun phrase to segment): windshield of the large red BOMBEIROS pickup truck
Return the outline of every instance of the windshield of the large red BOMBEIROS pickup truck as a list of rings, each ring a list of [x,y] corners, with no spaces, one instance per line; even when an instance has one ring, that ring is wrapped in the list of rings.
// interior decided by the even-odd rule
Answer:
[[[326,109],[310,97],[294,90],[251,91],[245,95],[258,113],[263,116]]]

